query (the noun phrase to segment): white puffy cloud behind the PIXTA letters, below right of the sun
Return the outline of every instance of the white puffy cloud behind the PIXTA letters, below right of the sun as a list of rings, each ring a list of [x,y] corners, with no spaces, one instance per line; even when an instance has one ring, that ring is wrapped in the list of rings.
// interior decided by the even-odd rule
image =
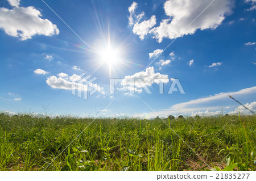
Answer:
[[[155,73],[154,67],[152,66],[147,68],[145,71],[125,76],[121,84],[123,86],[127,86],[128,89],[133,89],[129,87],[132,85],[130,79],[134,79],[135,91],[137,92],[141,92],[142,87],[151,86],[153,83],[169,82],[168,75]],[[141,79],[143,82],[139,82],[138,79]]]

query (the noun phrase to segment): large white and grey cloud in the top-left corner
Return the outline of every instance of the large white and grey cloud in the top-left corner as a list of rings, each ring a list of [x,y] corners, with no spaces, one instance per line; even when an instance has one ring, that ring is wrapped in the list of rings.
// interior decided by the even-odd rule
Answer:
[[[8,0],[13,9],[0,7],[0,28],[7,35],[20,40],[32,39],[34,35],[58,35],[59,29],[48,19],[42,19],[35,7],[21,7],[18,0]]]

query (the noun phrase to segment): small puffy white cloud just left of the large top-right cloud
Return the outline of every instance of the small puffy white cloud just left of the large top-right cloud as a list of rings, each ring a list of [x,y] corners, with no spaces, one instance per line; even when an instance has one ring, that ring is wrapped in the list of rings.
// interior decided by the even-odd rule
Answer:
[[[148,20],[144,20],[141,23],[135,23],[133,27],[133,33],[139,35],[139,38],[143,40],[144,37],[147,35],[148,31],[150,30],[150,28],[154,27],[155,24],[156,18],[155,15],[153,15]]]

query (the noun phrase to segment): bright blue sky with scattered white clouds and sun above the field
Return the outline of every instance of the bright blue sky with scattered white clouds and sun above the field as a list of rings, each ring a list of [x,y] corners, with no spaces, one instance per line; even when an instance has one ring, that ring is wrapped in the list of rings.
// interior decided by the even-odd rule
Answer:
[[[249,113],[229,94],[256,110],[255,0],[44,2],[0,2],[0,111],[148,118],[219,115],[221,108]],[[88,99],[72,95],[73,78],[82,73],[97,78]],[[110,78],[164,78],[164,94],[159,82],[147,86],[152,94],[110,94]],[[167,94],[174,79],[185,94],[177,86]]]

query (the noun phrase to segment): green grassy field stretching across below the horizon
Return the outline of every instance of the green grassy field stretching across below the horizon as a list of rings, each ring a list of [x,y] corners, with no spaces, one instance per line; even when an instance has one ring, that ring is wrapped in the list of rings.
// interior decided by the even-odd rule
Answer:
[[[0,169],[256,170],[255,116],[92,121],[1,114]]]

